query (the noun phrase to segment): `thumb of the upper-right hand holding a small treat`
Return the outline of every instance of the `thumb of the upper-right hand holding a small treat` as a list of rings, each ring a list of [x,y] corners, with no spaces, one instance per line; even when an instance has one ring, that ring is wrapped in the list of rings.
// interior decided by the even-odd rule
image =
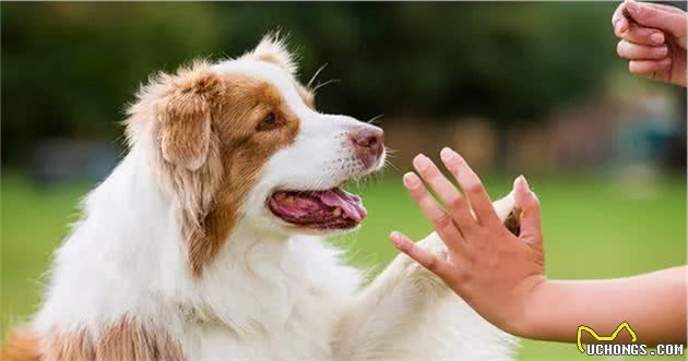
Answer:
[[[626,9],[633,21],[640,25],[665,31],[678,38],[686,37],[688,31],[686,28],[686,13],[684,12],[667,11],[632,0],[626,1]]]

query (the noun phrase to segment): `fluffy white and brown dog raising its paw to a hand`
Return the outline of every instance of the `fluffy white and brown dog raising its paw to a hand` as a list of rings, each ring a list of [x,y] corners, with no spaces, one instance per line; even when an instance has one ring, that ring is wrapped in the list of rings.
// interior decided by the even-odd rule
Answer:
[[[128,154],[3,360],[510,360],[514,339],[411,258],[366,284],[325,242],[366,217],[341,186],[383,166],[383,132],[318,112],[296,72],[266,36],[142,86]]]

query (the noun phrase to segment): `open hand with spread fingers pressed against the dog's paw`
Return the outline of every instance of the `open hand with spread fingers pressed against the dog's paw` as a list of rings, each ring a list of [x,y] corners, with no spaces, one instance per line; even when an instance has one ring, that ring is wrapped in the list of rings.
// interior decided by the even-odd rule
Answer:
[[[495,214],[485,188],[465,160],[449,148],[440,156],[465,194],[426,156],[418,155],[413,164],[447,210],[415,173],[404,176],[404,185],[447,244],[447,256],[430,254],[399,232],[392,232],[390,239],[490,323],[511,334],[526,334],[533,290],[545,280],[539,202],[519,177],[514,196],[522,214],[521,232],[515,237]]]

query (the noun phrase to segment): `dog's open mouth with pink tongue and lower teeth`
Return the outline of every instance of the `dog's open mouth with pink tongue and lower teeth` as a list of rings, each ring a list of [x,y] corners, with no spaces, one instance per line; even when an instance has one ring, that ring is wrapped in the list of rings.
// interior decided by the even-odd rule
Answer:
[[[315,229],[349,229],[366,217],[360,197],[333,188],[328,191],[278,191],[269,200],[272,213],[281,219]]]

